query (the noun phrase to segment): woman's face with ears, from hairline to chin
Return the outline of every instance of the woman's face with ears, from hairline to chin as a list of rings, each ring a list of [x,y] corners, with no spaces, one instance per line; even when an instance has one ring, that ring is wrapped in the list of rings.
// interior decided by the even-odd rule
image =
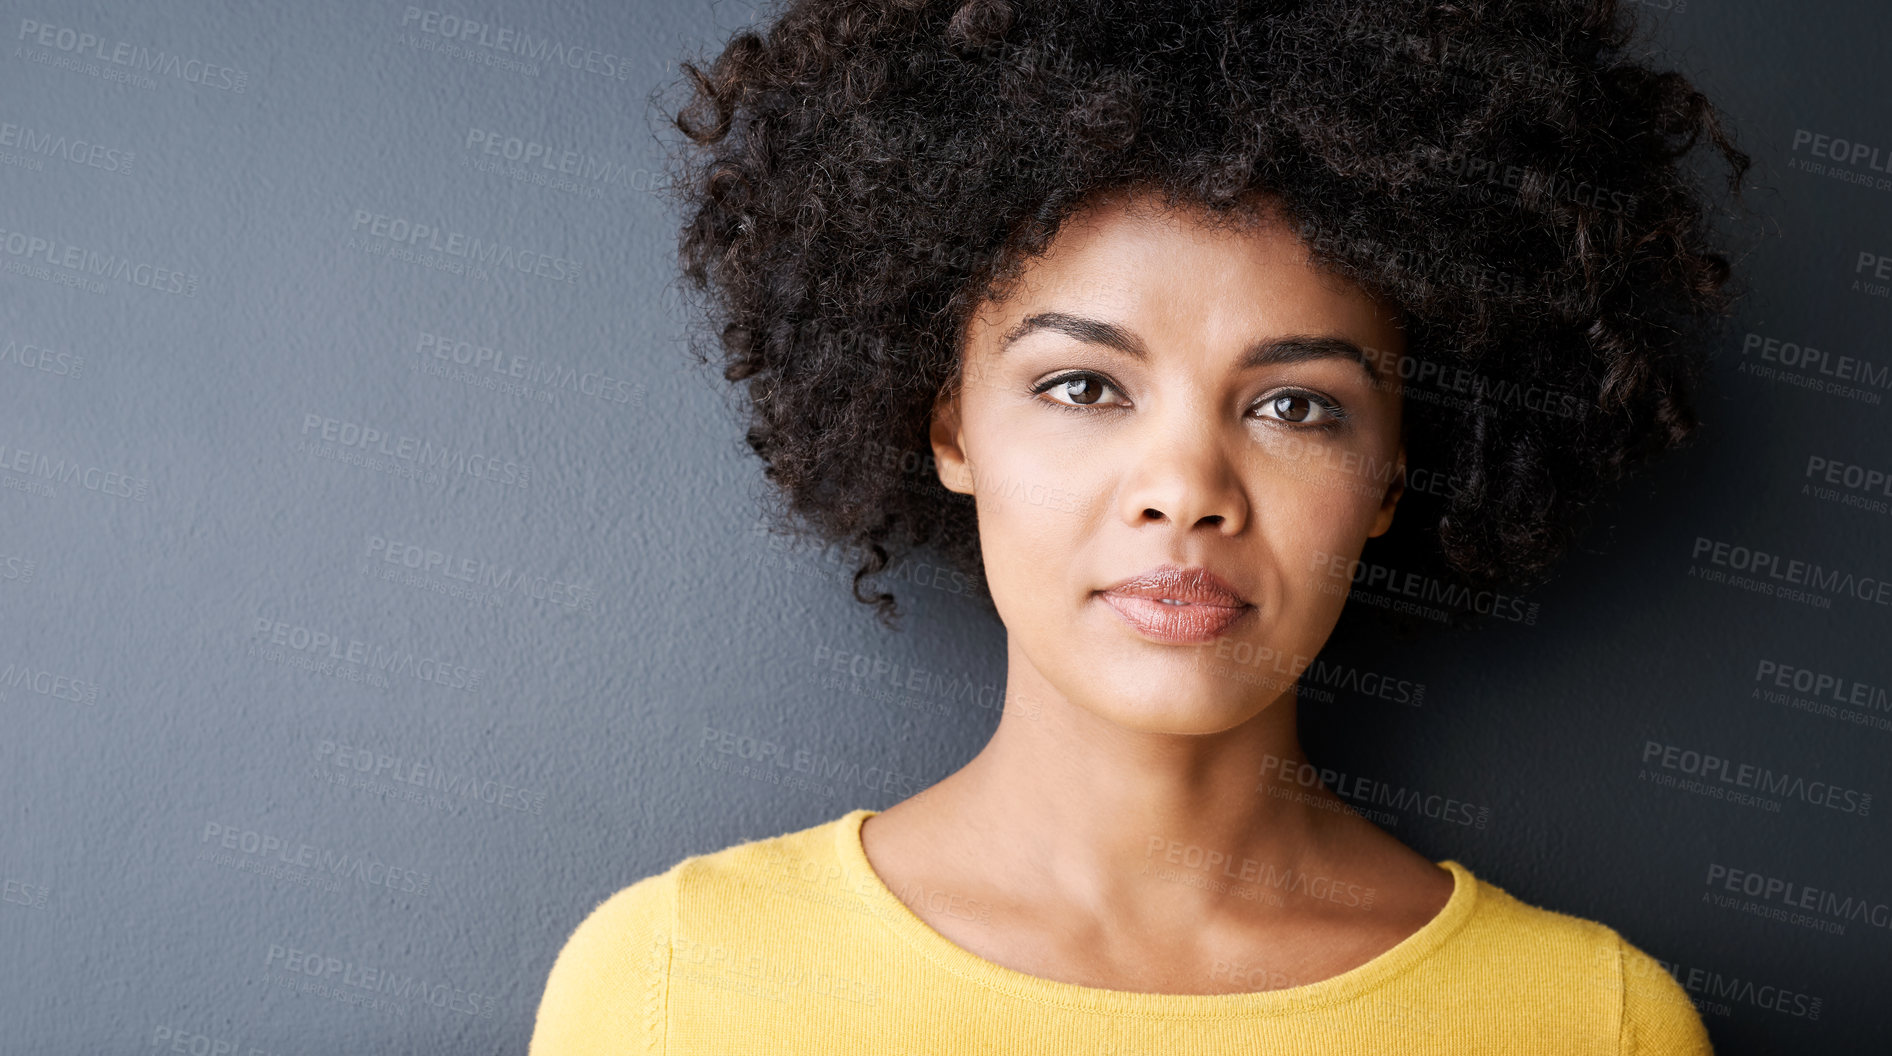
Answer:
[[[1396,316],[1279,223],[1211,231],[1124,195],[1069,220],[969,322],[965,384],[933,416],[1029,664],[1012,685],[1190,734],[1287,693],[1393,524],[1402,352]],[[1235,596],[1111,592],[1162,566]]]

